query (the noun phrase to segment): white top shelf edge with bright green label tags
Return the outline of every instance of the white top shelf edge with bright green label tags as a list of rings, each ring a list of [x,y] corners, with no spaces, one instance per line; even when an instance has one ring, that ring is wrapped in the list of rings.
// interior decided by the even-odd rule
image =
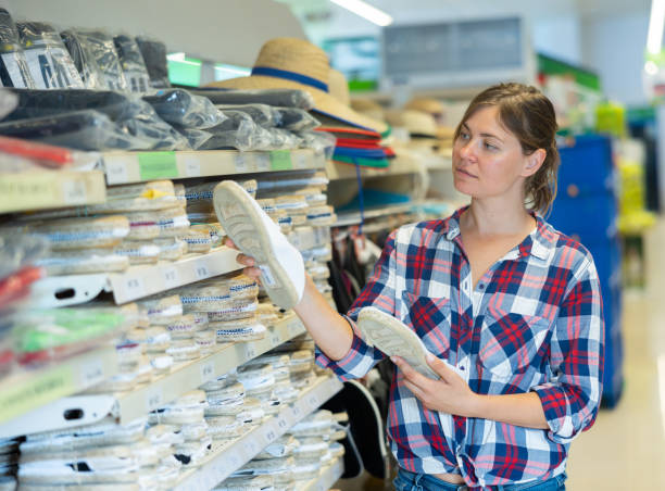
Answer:
[[[271,152],[236,150],[105,152],[102,155],[109,185],[153,179],[303,171],[325,166],[324,155],[315,153],[312,149]]]

